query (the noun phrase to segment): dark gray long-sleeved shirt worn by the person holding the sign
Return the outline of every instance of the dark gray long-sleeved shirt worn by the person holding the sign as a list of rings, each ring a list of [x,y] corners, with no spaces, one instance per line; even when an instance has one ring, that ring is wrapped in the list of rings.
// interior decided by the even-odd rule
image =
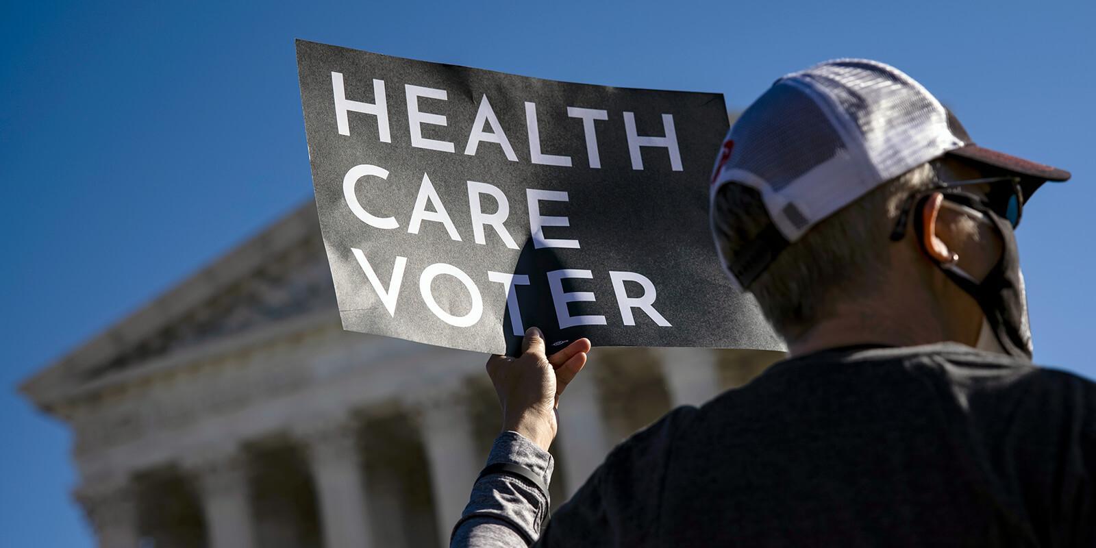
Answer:
[[[492,458],[550,476],[532,445]],[[1094,471],[1092,381],[955,343],[833,350],[635,434],[538,538],[538,490],[481,479],[454,543],[1096,546]]]

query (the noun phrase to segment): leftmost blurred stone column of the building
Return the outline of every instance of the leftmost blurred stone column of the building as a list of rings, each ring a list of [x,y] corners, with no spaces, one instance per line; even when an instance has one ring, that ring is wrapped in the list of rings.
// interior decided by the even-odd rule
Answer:
[[[76,491],[100,548],[138,548],[137,501],[125,482],[85,484]]]

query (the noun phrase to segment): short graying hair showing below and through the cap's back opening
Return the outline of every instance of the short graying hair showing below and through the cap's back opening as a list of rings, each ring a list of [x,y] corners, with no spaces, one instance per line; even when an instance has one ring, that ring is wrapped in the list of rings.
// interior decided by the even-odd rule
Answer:
[[[928,163],[913,168],[823,219],[777,255],[749,288],[777,333],[817,322],[835,302],[880,290],[903,202],[929,189],[934,178]],[[769,216],[761,194],[742,184],[723,185],[715,199],[716,240],[730,260],[768,226]]]

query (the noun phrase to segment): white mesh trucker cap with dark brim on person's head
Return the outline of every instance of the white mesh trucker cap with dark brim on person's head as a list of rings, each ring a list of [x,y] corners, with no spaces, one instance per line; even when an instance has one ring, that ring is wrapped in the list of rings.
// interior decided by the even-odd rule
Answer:
[[[1015,173],[1025,198],[1043,181],[1070,178],[974,145],[928,90],[889,65],[836,59],[787,75],[742,113],[717,158],[712,206],[722,185],[743,184],[761,194],[772,219],[731,262],[717,244],[720,261],[740,288],[749,287],[819,221],[946,153]],[[719,238],[715,222],[712,235]]]

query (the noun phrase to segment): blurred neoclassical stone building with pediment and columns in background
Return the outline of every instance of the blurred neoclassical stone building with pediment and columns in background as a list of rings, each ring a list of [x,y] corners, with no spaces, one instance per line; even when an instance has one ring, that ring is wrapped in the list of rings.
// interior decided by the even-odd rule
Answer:
[[[595,349],[561,404],[553,503],[635,430],[779,356]],[[307,204],[22,391],[72,427],[100,546],[427,547],[498,433],[484,361],[343,331]]]

